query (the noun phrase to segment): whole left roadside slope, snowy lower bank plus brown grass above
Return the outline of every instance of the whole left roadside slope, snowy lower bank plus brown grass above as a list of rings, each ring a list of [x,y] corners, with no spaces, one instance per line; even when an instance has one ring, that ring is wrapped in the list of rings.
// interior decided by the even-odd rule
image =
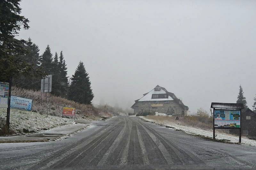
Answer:
[[[22,134],[28,132],[37,132],[42,129],[49,129],[56,126],[73,122],[70,119],[62,119],[62,107],[75,107],[76,119],[78,120],[100,120],[102,117],[111,117],[109,113],[104,113],[92,105],[84,105],[61,97],[56,97],[49,93],[48,118],[46,118],[47,100],[44,93],[44,103],[42,103],[42,93],[39,91],[26,90],[18,87],[12,87],[12,95],[29,98],[33,100],[32,112],[11,109],[10,113],[10,133]],[[0,135],[7,133],[5,126],[6,109],[0,109]],[[23,130],[25,129],[25,130]]]

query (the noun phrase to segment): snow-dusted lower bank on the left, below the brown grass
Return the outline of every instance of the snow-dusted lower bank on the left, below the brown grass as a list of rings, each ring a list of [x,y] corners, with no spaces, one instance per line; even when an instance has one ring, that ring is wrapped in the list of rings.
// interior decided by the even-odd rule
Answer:
[[[0,108],[0,128],[6,122],[6,109]],[[17,109],[11,109],[10,129],[15,134],[22,135],[25,133],[39,132],[41,130],[51,129],[54,127],[70,124],[74,122],[72,118],[62,118],[60,116],[41,115],[36,112],[29,112]]]

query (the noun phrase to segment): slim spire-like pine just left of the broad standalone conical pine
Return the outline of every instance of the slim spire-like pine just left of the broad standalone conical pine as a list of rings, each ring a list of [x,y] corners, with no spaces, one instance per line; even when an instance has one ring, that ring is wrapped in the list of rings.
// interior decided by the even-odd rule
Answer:
[[[60,90],[61,90],[61,96],[67,97],[67,91],[68,91],[68,77],[67,77],[67,65],[63,57],[62,51],[60,52],[60,58],[59,58],[59,68],[60,68]]]

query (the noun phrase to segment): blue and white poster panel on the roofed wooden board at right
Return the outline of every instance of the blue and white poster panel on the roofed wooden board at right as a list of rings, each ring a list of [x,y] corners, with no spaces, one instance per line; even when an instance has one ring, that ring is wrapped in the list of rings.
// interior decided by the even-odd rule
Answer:
[[[240,128],[240,110],[215,110],[215,128]]]

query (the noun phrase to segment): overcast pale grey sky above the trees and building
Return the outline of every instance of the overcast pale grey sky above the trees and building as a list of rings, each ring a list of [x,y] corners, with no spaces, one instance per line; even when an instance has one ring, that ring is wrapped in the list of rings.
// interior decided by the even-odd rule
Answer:
[[[131,107],[157,84],[192,112],[256,94],[256,1],[23,0],[30,37],[63,50],[68,76],[81,60],[95,104]]]

